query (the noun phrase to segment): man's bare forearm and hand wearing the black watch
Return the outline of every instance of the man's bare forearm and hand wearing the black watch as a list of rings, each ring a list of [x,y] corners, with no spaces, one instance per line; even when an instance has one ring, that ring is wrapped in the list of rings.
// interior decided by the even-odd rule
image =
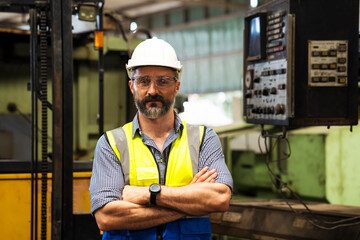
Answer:
[[[157,205],[187,215],[205,215],[211,212],[226,211],[231,198],[230,188],[222,183],[214,183],[213,180],[217,176],[215,170],[207,173],[204,173],[204,171],[206,172],[206,168],[201,170],[194,177],[192,184],[187,186],[162,186],[161,192],[156,198]],[[209,180],[210,178],[212,179]],[[123,190],[123,199],[145,205],[150,202],[149,188],[127,185]]]

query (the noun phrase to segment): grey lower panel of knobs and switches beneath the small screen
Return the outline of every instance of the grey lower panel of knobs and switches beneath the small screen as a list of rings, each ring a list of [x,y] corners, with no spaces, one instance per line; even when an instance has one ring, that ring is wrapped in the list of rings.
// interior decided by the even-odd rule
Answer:
[[[249,64],[245,79],[248,119],[286,120],[288,109],[287,60]]]

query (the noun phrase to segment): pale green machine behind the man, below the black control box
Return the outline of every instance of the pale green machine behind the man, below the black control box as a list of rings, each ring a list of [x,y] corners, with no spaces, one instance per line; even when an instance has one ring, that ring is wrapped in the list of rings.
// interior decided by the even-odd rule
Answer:
[[[290,130],[287,140],[267,140],[267,146],[259,136],[255,128],[229,140],[235,195],[296,199],[292,190],[302,200],[360,206],[358,126],[353,132],[349,127]]]

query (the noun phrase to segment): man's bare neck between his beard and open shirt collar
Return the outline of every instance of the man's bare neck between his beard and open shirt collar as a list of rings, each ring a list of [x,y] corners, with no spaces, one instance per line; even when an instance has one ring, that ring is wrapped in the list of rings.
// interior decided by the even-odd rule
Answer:
[[[145,117],[139,112],[139,124],[143,133],[154,138],[167,138],[170,132],[174,129],[174,111],[171,108],[164,116],[151,119]]]

